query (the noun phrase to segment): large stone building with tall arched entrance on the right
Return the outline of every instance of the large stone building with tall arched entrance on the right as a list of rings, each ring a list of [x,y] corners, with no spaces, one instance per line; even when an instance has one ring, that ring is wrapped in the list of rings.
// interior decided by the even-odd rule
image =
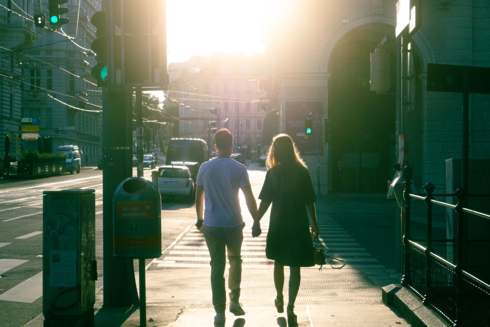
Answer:
[[[428,92],[427,64],[488,67],[490,5],[417,2],[421,25],[410,40],[409,92],[401,99],[396,3],[287,1],[270,13],[264,40],[272,106],[280,108],[280,131],[294,134],[298,147],[311,143],[298,126],[310,113],[316,120],[310,139],[319,141],[319,155],[303,154],[321,194],[385,192],[397,163],[413,167],[417,190],[429,181],[443,190],[445,160],[462,157],[462,94]],[[389,53],[384,92],[370,90],[376,49]],[[490,156],[488,104],[488,95],[470,95],[470,159]]]

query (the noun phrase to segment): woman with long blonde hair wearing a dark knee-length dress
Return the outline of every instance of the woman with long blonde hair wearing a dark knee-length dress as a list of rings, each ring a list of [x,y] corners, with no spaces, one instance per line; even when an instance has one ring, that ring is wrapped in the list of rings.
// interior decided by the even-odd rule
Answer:
[[[284,266],[290,267],[288,324],[296,324],[294,302],[301,281],[300,267],[315,265],[312,237],[319,234],[310,172],[299,156],[293,140],[279,134],[272,140],[266,160],[268,171],[262,190],[257,216],[252,226],[252,236],[261,233],[260,219],[272,203],[266,256],[274,260],[274,286],[277,312],[284,312]],[[311,233],[308,213],[312,219]]]

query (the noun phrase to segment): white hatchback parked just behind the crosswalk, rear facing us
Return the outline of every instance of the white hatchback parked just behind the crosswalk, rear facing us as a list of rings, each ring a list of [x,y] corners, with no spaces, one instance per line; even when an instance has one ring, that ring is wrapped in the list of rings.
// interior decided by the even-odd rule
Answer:
[[[195,199],[195,183],[186,166],[166,165],[158,168],[158,190],[162,197],[183,197],[185,201]]]

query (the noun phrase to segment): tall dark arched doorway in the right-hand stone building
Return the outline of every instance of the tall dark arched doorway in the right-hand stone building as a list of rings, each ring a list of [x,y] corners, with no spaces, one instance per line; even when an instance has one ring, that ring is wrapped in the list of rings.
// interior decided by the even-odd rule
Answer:
[[[395,55],[390,58],[390,90],[370,91],[369,54],[387,27],[360,26],[336,44],[328,65],[331,190],[386,192],[395,163]],[[390,49],[388,49],[390,50]],[[394,51],[394,46],[392,47]]]

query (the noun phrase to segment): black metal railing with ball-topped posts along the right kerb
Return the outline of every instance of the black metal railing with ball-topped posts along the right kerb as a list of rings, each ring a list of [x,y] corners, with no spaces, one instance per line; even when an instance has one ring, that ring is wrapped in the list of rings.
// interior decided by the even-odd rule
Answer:
[[[470,195],[462,189],[454,194],[434,194],[432,183],[425,184],[425,196],[412,194],[409,191],[412,175],[411,168],[405,167],[402,285],[453,326],[490,326],[490,215],[465,205],[470,197],[490,198],[490,195]],[[457,204],[437,201],[434,197],[454,197]],[[412,200],[425,202],[425,239],[411,237]],[[433,237],[434,205],[455,210],[457,229],[450,234],[454,238]],[[474,225],[484,228],[486,236],[478,239],[468,233],[474,230]]]

